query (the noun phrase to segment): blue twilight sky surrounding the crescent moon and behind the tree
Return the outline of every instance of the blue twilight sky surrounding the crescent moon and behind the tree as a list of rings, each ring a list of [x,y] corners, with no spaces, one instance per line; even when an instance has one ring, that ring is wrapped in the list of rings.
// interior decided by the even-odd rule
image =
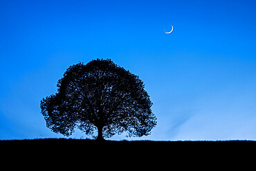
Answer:
[[[0,1],[0,139],[63,137],[46,127],[40,100],[68,66],[99,57],[145,83],[158,125],[140,139],[256,140],[255,8],[244,0]]]

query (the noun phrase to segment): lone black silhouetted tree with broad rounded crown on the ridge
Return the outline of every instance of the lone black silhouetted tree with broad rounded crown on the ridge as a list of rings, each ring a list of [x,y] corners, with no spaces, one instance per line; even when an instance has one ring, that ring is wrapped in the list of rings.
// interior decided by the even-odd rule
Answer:
[[[122,132],[147,136],[156,126],[143,82],[111,60],[70,66],[57,87],[40,105],[46,126],[55,133],[70,136],[77,127],[93,134],[97,128],[97,140],[104,140]]]

